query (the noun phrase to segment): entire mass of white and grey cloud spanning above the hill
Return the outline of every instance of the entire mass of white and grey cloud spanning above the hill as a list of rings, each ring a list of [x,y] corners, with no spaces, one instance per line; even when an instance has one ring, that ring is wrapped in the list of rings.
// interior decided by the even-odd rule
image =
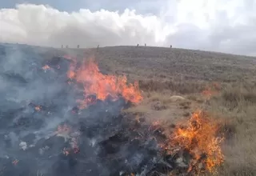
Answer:
[[[172,44],[256,54],[255,5],[255,0],[166,0],[161,1],[159,14],[138,14],[128,9],[67,13],[50,6],[20,4],[0,10],[0,42],[73,47]]]

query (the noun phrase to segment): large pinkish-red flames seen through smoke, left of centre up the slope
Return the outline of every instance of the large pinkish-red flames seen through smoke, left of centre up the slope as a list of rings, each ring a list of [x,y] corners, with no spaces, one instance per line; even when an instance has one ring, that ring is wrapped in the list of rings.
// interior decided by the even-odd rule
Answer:
[[[119,95],[122,95],[126,101],[133,103],[138,103],[142,100],[138,82],[128,84],[126,77],[102,74],[98,69],[98,65],[92,60],[84,62],[78,70],[75,68],[76,62],[71,63],[67,77],[75,79],[84,86],[85,98],[82,101],[79,100],[81,108],[85,108],[90,104],[91,99],[88,98],[90,95],[95,95],[96,99],[102,101],[106,100],[106,98],[116,100]]]

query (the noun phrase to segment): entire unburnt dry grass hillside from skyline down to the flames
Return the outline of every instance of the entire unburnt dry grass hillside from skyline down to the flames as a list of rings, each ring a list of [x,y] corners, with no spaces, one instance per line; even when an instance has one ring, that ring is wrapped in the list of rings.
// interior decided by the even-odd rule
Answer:
[[[103,73],[138,81],[144,100],[124,113],[175,123],[201,109],[222,118],[225,163],[216,175],[256,174],[256,58],[150,46],[62,49],[51,54],[63,52],[95,58]],[[216,94],[202,95],[212,85],[218,85]]]

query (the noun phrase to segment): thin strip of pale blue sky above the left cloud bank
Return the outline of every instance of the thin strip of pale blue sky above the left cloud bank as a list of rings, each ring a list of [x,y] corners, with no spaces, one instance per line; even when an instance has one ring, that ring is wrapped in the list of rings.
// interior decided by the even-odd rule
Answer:
[[[90,10],[120,10],[123,11],[126,8],[135,9],[145,13],[158,13],[158,6],[164,0],[4,0],[0,1],[0,8],[14,8],[19,3],[32,3],[32,4],[48,4],[58,10],[64,11],[76,11],[79,9]],[[146,5],[146,6],[145,6]]]

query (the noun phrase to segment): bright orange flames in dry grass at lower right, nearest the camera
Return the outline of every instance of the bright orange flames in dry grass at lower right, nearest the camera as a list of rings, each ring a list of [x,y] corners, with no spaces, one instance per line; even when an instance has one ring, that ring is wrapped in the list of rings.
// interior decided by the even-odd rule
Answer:
[[[224,156],[220,147],[223,138],[216,137],[217,131],[218,123],[201,111],[191,116],[188,126],[176,128],[171,146],[179,146],[189,151],[193,157],[189,171],[193,169],[200,171],[198,163],[202,163],[207,170],[212,171],[215,166],[223,162]]]

